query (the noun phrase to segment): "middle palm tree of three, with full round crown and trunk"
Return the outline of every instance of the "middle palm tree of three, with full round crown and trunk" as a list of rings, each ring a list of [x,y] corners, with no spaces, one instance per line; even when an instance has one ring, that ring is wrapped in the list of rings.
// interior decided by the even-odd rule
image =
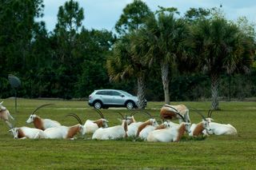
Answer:
[[[137,51],[143,62],[160,65],[165,102],[170,104],[170,67],[184,54],[184,42],[189,32],[186,23],[176,19],[173,13],[160,12],[157,16],[147,20],[146,26],[138,30],[139,36],[132,42],[140,49]]]

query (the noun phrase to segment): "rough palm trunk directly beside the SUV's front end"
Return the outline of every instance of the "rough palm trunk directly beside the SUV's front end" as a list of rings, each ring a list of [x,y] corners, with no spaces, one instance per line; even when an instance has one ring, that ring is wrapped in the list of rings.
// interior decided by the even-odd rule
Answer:
[[[138,109],[145,109],[146,98],[145,98],[145,74],[142,73],[137,78],[138,83]]]

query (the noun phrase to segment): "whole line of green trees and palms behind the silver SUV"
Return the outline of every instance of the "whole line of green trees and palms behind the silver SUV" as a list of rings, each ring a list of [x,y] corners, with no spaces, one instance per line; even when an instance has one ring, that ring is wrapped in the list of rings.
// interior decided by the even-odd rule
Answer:
[[[231,89],[234,81],[251,84],[244,97],[255,94],[255,32],[246,18],[229,21],[219,8],[151,11],[134,0],[113,33],[86,30],[86,11],[70,0],[49,32],[39,19],[43,9],[42,0],[0,1],[0,97],[13,95],[8,74],[22,80],[19,97],[70,99],[94,89],[124,89],[137,94],[140,108],[145,99],[169,104],[211,97],[218,109],[223,84]],[[239,75],[250,78],[234,78]],[[200,92],[205,85],[207,93]]]

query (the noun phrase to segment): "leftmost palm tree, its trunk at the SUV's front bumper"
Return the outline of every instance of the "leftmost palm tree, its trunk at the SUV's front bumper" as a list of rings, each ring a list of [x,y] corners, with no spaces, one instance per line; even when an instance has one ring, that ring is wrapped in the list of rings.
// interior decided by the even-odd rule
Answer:
[[[147,67],[142,65],[130,49],[130,35],[126,34],[114,44],[113,54],[106,61],[110,81],[120,81],[136,77],[138,84],[138,108],[145,109],[145,73]]]

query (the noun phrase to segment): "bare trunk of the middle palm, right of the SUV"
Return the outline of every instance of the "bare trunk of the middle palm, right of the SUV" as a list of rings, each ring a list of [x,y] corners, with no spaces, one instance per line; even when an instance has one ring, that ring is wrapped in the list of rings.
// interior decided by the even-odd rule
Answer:
[[[167,63],[161,64],[162,73],[162,85],[165,93],[165,103],[170,104],[170,93],[169,93],[169,65]]]

